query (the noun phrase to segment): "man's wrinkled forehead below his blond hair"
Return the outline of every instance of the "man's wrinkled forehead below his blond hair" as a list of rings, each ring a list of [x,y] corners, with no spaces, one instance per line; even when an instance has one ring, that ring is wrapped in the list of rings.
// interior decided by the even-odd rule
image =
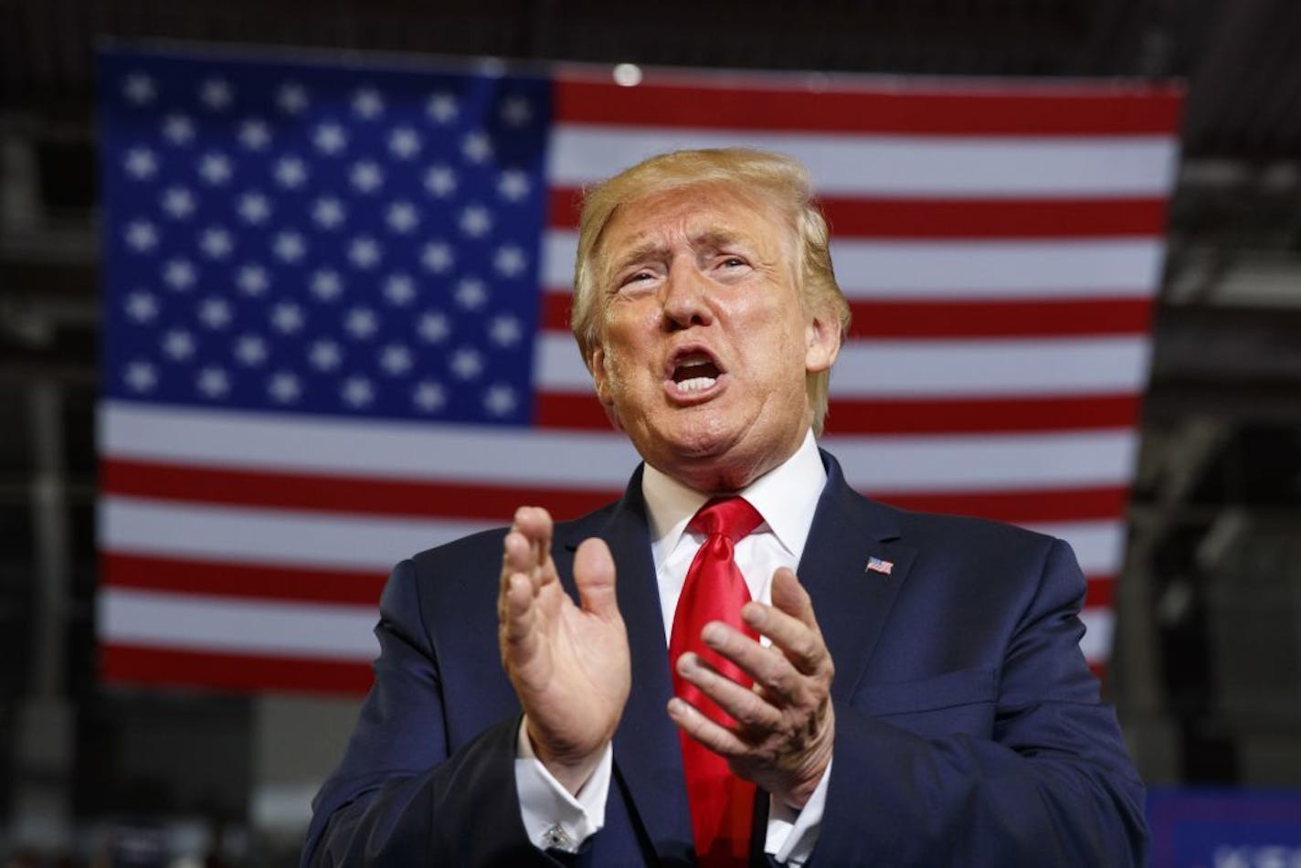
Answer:
[[[788,236],[782,215],[766,198],[713,183],[675,187],[621,203],[601,233],[600,250],[618,256],[703,238],[773,246]]]

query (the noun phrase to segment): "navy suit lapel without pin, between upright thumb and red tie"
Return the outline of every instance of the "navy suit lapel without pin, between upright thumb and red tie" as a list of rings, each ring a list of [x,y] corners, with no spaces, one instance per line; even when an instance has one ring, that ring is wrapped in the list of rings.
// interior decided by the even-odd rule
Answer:
[[[632,658],[632,691],[614,734],[615,774],[627,790],[630,813],[640,820],[658,861],[678,864],[688,861],[692,847],[691,809],[678,729],[665,709],[673,681],[648,527],[637,468],[604,526],[575,528],[574,539],[565,540],[563,553],[557,556],[567,563],[557,566],[572,593],[572,553],[585,536],[600,536],[614,554],[619,612]]]

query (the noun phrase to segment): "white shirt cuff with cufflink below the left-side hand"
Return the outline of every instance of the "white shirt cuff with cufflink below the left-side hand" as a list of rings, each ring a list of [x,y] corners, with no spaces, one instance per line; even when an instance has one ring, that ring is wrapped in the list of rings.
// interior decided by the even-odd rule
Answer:
[[[614,751],[606,744],[592,777],[571,794],[557,781],[533,752],[528,740],[528,718],[519,722],[515,748],[515,790],[528,839],[539,850],[578,852],[589,837],[605,825],[605,800],[610,794]]]

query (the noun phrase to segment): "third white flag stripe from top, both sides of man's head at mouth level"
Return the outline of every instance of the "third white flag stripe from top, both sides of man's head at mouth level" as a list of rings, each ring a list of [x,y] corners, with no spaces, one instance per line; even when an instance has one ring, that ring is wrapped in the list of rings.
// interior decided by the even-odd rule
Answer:
[[[850,341],[831,373],[831,400],[1138,393],[1147,384],[1149,344],[1145,334]],[[540,334],[535,358],[539,388],[591,393],[569,334]]]

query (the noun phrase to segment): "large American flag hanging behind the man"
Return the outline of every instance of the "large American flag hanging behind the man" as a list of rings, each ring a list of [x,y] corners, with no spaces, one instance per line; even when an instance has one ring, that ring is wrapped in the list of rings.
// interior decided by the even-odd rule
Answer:
[[[1106,662],[1176,88],[137,51],[99,86],[105,678],[366,690],[393,562],[617,497],[575,200],[725,144],[813,172],[850,481],[1067,539]]]

